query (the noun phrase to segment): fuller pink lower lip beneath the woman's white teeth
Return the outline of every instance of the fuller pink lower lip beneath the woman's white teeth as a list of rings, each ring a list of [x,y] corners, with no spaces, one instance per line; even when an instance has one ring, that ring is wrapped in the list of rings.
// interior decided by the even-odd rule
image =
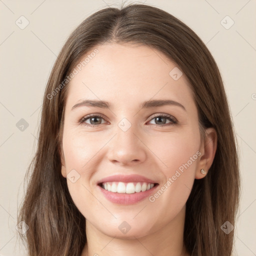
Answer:
[[[133,203],[139,202],[145,199],[146,197],[149,197],[155,191],[157,186],[158,184],[144,192],[135,192],[135,193],[127,194],[127,193],[110,192],[108,190],[105,190],[101,186],[97,185],[97,187],[99,187],[100,191],[103,193],[106,199],[117,204],[133,204]]]

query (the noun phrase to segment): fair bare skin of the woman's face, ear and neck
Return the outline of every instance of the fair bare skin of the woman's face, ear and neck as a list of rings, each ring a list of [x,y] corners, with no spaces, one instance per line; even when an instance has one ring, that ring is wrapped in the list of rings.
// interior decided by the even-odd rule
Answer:
[[[174,80],[169,75],[177,65],[164,54],[128,43],[95,48],[99,52],[68,85],[61,149],[62,175],[72,169],[80,175],[74,183],[67,178],[67,185],[86,218],[87,243],[81,255],[189,255],[183,244],[185,203],[194,179],[206,175],[200,169],[207,172],[213,161],[216,132],[208,128],[201,140],[187,78],[183,74]],[[71,110],[83,99],[105,100],[111,106]],[[185,110],[177,105],[141,109],[140,104],[149,99],[175,100]],[[152,117],[163,113],[177,123]],[[99,123],[96,127],[79,123],[88,114],[104,118],[85,120]],[[125,132],[118,126],[122,118],[131,123]],[[197,151],[200,156],[153,202],[146,198],[115,204],[97,189],[99,179],[114,174],[140,174],[161,187]],[[118,228],[122,221],[131,227],[125,234]]]

